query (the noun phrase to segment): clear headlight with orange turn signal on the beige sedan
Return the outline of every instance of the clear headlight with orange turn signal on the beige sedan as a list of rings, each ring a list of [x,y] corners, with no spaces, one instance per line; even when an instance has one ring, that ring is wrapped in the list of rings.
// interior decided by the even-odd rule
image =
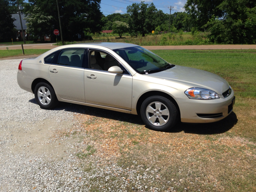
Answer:
[[[185,91],[185,94],[190,99],[218,99],[220,98],[219,95],[212,90],[193,87],[189,88]]]

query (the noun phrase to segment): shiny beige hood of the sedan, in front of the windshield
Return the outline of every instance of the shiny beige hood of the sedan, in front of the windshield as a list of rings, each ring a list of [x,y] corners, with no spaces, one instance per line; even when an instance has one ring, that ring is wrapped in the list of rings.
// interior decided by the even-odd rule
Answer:
[[[218,94],[222,94],[229,88],[228,82],[216,74],[184,66],[176,65],[162,72],[148,74],[148,76],[187,84],[191,87],[210,89]]]

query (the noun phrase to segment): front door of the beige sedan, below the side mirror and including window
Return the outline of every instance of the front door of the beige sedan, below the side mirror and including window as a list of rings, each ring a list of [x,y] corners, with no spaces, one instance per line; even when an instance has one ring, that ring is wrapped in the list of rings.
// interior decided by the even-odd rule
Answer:
[[[123,69],[123,74],[108,72],[111,66],[119,66]],[[88,51],[84,90],[86,103],[126,110],[132,108],[132,76],[107,52]]]

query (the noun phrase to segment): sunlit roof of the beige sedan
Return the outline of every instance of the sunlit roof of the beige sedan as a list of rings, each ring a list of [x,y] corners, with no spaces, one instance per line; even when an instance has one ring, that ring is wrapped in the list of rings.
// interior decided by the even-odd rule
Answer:
[[[84,45],[84,46],[101,46],[106,47],[109,49],[120,49],[120,48],[126,48],[126,47],[134,47],[138,46],[136,44],[131,43],[119,43],[119,42],[92,42],[92,43],[79,43],[79,44],[73,44],[73,45]]]

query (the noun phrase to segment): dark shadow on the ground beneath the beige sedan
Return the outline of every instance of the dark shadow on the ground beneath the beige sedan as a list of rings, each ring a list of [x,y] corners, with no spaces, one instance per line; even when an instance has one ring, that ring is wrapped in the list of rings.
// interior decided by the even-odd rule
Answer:
[[[37,104],[35,99],[29,100],[33,104]],[[112,120],[118,120],[122,122],[128,122],[132,124],[144,125],[144,122],[138,115],[126,114],[122,112],[116,112],[112,110],[106,110],[101,108],[95,108],[90,106],[83,106],[78,104],[71,104],[66,102],[60,102],[60,104],[52,110],[65,110],[68,112],[74,112],[78,114],[86,114],[99,118],[106,118]],[[221,134],[232,129],[233,126],[238,122],[237,116],[232,112],[228,117],[223,120],[214,123],[182,123],[179,122],[169,133],[178,133],[184,131],[188,134]],[[145,126],[146,127],[146,126]],[[148,127],[146,127],[148,128]]]

